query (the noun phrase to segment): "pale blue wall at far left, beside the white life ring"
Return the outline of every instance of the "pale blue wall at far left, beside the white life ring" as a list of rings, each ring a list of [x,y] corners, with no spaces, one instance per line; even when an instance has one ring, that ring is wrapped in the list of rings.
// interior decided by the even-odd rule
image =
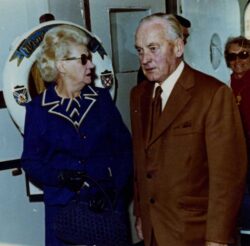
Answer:
[[[0,90],[2,71],[15,38],[36,26],[48,11],[47,1],[0,0]],[[19,159],[22,137],[7,109],[0,110],[0,162]],[[1,163],[0,163],[1,165]],[[24,175],[0,171],[0,245],[43,245],[43,204],[30,203]]]

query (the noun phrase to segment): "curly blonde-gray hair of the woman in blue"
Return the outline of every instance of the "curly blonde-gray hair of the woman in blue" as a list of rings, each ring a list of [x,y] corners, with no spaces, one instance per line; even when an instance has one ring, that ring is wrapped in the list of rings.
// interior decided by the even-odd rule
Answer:
[[[51,82],[58,76],[56,61],[70,55],[71,44],[88,45],[88,37],[80,28],[70,25],[59,25],[50,29],[40,45],[37,65],[42,79]]]

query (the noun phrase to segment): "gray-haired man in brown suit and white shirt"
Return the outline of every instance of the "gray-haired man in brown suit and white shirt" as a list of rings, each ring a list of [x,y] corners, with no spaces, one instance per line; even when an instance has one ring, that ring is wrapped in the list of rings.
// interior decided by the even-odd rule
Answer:
[[[131,92],[138,236],[146,246],[228,245],[247,169],[231,90],[183,62],[173,15],[143,18],[135,47],[147,77]]]

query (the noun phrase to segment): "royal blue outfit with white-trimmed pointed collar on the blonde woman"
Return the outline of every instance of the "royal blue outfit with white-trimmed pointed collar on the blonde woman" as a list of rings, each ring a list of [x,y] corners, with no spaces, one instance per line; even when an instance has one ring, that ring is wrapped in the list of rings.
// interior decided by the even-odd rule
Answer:
[[[79,97],[64,99],[51,85],[28,103],[22,167],[44,191],[47,246],[64,245],[54,235],[53,219],[58,207],[76,195],[59,184],[64,169],[85,171],[114,192],[117,211],[128,213],[131,136],[106,89],[87,85]],[[84,188],[81,199],[95,192],[95,187]]]

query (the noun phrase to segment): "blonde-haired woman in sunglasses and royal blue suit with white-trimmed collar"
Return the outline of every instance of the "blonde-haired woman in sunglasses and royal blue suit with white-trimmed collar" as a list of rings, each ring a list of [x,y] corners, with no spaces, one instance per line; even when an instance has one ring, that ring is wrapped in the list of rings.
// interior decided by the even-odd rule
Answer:
[[[22,167],[43,187],[49,246],[64,245],[53,230],[62,205],[79,196],[104,206],[103,201],[93,203],[100,192],[86,175],[99,183],[115,201],[114,209],[127,219],[130,134],[108,90],[92,84],[95,66],[87,45],[85,33],[69,25],[46,33],[37,63],[43,80],[51,85],[26,107]]]

